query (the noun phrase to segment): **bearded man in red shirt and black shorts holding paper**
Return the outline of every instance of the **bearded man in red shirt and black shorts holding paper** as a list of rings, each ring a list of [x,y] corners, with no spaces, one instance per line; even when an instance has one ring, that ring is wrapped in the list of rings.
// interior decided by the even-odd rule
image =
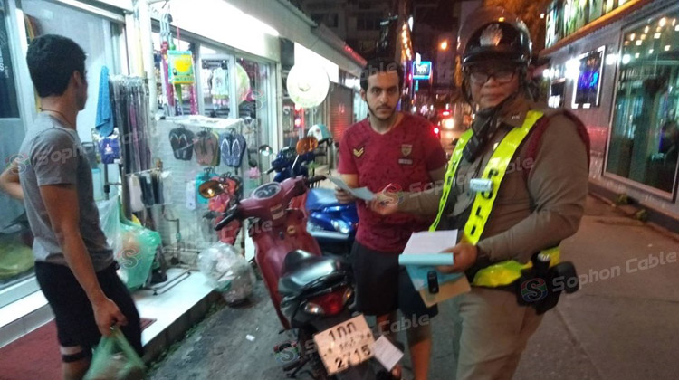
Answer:
[[[378,193],[387,185],[406,192],[419,191],[445,175],[445,152],[426,119],[397,111],[403,89],[403,69],[390,60],[368,62],[361,72],[361,97],[368,103],[367,119],[349,127],[339,144],[339,174],[351,187],[366,186]],[[412,214],[388,217],[370,210],[347,192],[336,191],[339,202],[357,202],[359,231],[351,251],[356,279],[357,307],[378,317],[380,332],[396,320],[397,309],[415,321],[434,317],[407,272],[398,266],[411,233],[432,222]],[[411,319],[412,321],[412,319]],[[432,340],[426,323],[406,330],[416,380],[426,379]],[[398,371],[397,371],[398,372]]]

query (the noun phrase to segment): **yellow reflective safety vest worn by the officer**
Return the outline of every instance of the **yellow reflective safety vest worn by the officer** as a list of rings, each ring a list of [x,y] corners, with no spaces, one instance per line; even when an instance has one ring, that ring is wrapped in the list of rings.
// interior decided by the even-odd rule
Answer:
[[[493,204],[495,198],[502,185],[502,179],[507,172],[507,167],[512,162],[512,158],[516,151],[521,147],[521,142],[529,135],[531,128],[533,128],[538,120],[544,114],[540,111],[531,110],[526,114],[526,119],[520,128],[512,128],[507,135],[502,138],[500,144],[493,151],[493,156],[488,160],[483,169],[483,178],[490,179],[493,182],[493,187],[490,192],[478,192],[473,200],[472,211],[469,214],[469,219],[464,224],[463,240],[472,244],[476,244],[483,235],[483,229],[488,222],[488,218],[493,211]],[[441,218],[444,217],[445,203],[448,200],[451,189],[454,184],[454,178],[457,174],[457,166],[462,160],[462,153],[464,146],[472,138],[473,130],[469,129],[463,133],[459,138],[457,145],[453,151],[453,156],[448,164],[448,169],[445,173],[444,191],[441,196],[441,201],[438,205],[438,214],[434,223],[429,227],[429,231],[435,231]],[[559,247],[553,247],[542,251],[550,257],[550,266],[559,263]],[[509,285],[521,277],[521,270],[531,268],[532,262],[528,261],[522,264],[519,261],[508,260],[494,263],[482,270],[476,272],[474,275],[472,285],[495,288],[499,286]]]

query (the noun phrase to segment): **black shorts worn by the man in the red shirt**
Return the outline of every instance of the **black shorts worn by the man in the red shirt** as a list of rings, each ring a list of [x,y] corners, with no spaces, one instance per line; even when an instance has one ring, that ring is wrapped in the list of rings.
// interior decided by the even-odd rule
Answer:
[[[351,265],[357,309],[369,316],[382,316],[400,309],[404,318],[435,317],[438,307],[426,307],[406,269],[398,265],[398,253],[374,251],[354,242]]]

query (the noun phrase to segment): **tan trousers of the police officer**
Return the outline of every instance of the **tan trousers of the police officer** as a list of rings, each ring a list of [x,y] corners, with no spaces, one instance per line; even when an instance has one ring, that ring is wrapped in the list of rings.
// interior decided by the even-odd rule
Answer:
[[[509,291],[476,287],[455,297],[454,309],[455,379],[512,379],[542,316],[519,306]]]

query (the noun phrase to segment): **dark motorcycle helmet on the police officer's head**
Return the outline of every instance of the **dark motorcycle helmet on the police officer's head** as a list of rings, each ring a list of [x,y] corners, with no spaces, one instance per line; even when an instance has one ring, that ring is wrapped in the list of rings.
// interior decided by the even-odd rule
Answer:
[[[498,6],[482,7],[460,28],[458,49],[463,68],[490,60],[519,66],[531,62],[531,35],[519,17]]]

